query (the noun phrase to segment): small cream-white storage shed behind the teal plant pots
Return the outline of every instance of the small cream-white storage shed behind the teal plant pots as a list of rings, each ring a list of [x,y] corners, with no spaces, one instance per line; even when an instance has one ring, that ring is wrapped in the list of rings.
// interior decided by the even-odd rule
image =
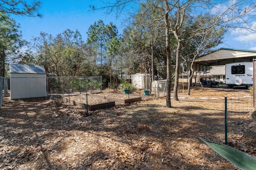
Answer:
[[[146,78],[148,78],[147,86],[146,86]],[[148,76],[144,73],[136,73],[132,75],[132,84],[136,85],[138,89],[146,89],[149,88],[150,84],[150,75]]]

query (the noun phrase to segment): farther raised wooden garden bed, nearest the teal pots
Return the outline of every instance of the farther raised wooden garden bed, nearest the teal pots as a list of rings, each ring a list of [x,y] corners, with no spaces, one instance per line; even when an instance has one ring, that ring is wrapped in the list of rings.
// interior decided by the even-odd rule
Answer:
[[[124,94],[96,93],[96,94],[88,94],[88,95],[96,97],[96,98],[101,98],[101,99],[105,99],[105,100],[110,100],[110,101],[122,103],[122,104],[131,104],[131,103],[134,103],[134,102],[141,101],[141,97],[130,96],[129,95],[129,99],[128,99],[128,95],[124,95]]]

